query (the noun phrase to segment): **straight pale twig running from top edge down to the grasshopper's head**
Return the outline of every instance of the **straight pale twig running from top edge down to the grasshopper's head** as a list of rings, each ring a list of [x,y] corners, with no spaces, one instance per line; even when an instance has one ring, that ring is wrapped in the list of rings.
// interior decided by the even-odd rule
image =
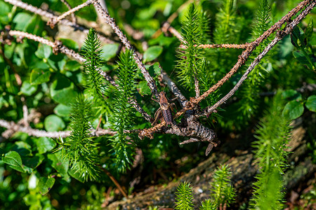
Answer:
[[[138,54],[132,47],[131,43],[129,43],[129,40],[123,34],[121,29],[119,29],[117,24],[114,22],[114,19],[111,18],[110,15],[107,13],[107,11],[105,11],[105,9],[100,5],[99,1],[98,0],[92,0],[92,1],[93,1],[94,6],[97,8],[98,12],[102,15],[105,22],[107,22],[107,24],[110,25],[110,27],[112,27],[114,33],[117,34],[117,36],[121,40],[121,43],[123,43],[124,46],[128,48],[129,50],[133,50],[133,57],[136,61],[136,64],[138,65],[138,68],[143,73],[143,76],[145,80],[147,81],[147,85],[150,87],[152,94],[154,94],[154,96],[157,99],[159,99],[159,93],[158,93],[156,83],[154,82],[154,79],[148,73],[147,69],[145,68],[145,65],[143,64],[143,62],[141,62],[140,57],[138,56]]]

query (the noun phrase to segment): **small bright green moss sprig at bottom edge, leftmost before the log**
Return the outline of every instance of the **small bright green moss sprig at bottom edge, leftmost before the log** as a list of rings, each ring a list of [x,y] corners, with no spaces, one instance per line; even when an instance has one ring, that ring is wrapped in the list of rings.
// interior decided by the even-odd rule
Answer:
[[[193,190],[190,183],[180,183],[176,192],[176,208],[178,210],[191,210],[193,209]]]

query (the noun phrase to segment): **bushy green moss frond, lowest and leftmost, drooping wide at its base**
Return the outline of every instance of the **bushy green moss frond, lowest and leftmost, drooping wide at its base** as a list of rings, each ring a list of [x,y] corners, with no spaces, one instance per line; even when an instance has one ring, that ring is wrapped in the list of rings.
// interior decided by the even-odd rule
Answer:
[[[70,161],[72,169],[84,180],[97,180],[100,176],[98,146],[89,136],[91,104],[79,95],[72,106],[70,137],[62,143],[62,157]]]

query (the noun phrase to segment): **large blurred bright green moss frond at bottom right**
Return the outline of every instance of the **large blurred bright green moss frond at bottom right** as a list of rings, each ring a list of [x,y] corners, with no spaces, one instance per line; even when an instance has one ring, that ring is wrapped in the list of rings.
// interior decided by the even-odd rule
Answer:
[[[256,160],[260,174],[256,176],[253,209],[282,209],[282,176],[289,139],[289,122],[282,116],[284,102],[280,93],[275,95],[270,109],[265,112],[256,130]]]

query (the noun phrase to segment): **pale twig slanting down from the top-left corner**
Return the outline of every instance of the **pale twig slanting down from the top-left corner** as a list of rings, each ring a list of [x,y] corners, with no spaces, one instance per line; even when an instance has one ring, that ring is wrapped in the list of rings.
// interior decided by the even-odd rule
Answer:
[[[48,18],[48,20],[58,18],[58,16],[53,15],[52,13],[48,13],[47,11],[42,10],[41,8],[37,8],[35,6],[24,3],[22,1],[18,1],[18,0],[4,0],[4,1],[11,3],[14,6],[18,6],[22,9],[28,10],[31,13],[40,15],[41,17]],[[85,27],[82,27],[81,25],[78,25],[75,22],[71,22],[67,19],[63,19],[63,20],[60,20],[60,23],[62,25],[70,26],[74,28],[75,30],[83,31],[85,34],[88,34],[88,31],[89,31],[88,29],[86,29]],[[110,40],[109,38],[106,38],[105,36],[102,36],[100,34],[98,34],[98,36],[100,38],[100,41],[102,41],[103,43],[114,43],[114,41]]]

